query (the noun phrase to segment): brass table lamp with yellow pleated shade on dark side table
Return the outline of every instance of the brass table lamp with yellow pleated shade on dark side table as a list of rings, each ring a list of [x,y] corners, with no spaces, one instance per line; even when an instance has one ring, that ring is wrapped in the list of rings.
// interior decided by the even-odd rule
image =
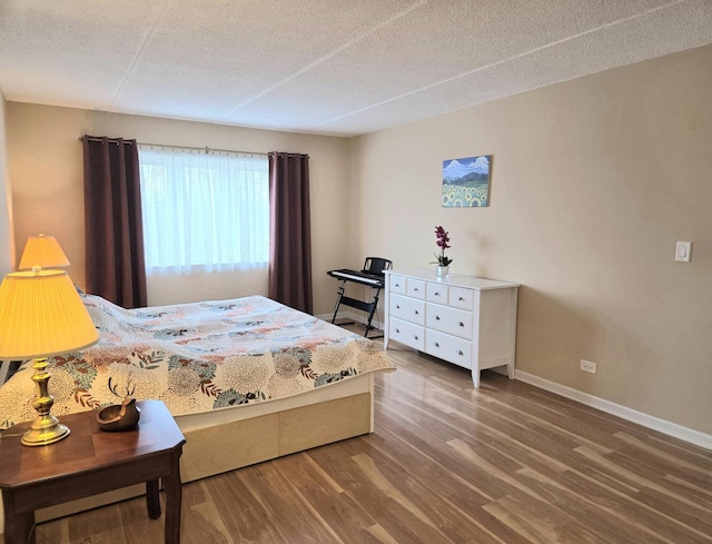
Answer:
[[[55,398],[48,392],[47,357],[83,349],[98,339],[99,333],[66,271],[36,266],[4,277],[0,285],[0,359],[33,359],[32,380],[37,384],[32,406],[38,416],[22,444],[48,445],[69,435],[69,428],[50,414]]]

